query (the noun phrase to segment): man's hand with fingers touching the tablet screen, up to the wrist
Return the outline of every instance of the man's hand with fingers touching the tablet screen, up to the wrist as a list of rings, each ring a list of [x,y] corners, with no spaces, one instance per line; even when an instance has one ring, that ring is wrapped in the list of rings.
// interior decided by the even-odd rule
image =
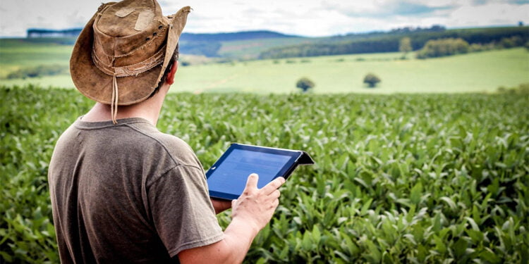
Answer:
[[[279,205],[279,187],[284,184],[284,177],[277,177],[262,189],[257,189],[259,176],[255,173],[248,176],[243,194],[231,201],[233,220],[240,219],[255,228],[262,230],[270,221]]]

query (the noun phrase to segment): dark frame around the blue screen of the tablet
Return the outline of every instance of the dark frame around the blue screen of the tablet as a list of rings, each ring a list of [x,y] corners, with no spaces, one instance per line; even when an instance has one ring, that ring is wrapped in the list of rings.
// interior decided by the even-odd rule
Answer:
[[[282,155],[282,156],[290,156],[291,158],[285,163],[285,165],[283,165],[281,170],[279,170],[279,172],[277,172],[277,174],[274,177],[272,177],[272,180],[280,176],[283,176],[285,179],[288,178],[288,176],[290,176],[293,170],[296,168],[296,161],[298,161],[300,156],[303,156],[303,151],[294,151],[291,149],[276,149],[276,148],[269,148],[266,146],[253,146],[253,145],[233,143],[229,146],[226,152],[222,153],[222,156],[211,166],[211,168],[216,169],[217,167],[219,167],[219,165],[221,165],[224,162],[224,160],[226,160],[226,158],[229,156],[229,154],[235,149],[240,149],[243,151],[253,151],[253,152],[258,152],[258,153],[270,153],[270,154],[276,154],[276,155]],[[209,177],[212,176],[212,173],[215,171],[214,169],[212,170],[211,168],[209,168],[209,170],[207,170],[206,172],[207,180],[209,179]],[[208,189],[209,189],[208,190],[209,196],[213,198],[217,198],[217,199],[233,200],[233,199],[237,199],[238,196],[240,196],[240,194],[231,194],[231,193],[226,193],[223,191],[212,191],[211,187],[209,186],[209,182],[208,182]]]

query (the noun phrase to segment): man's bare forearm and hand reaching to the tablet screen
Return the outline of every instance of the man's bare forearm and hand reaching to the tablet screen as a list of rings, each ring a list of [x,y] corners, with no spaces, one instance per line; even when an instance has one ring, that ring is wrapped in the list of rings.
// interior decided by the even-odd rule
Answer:
[[[232,220],[224,231],[224,239],[217,243],[186,249],[178,253],[183,264],[242,263],[253,239],[270,221],[279,205],[278,190],[285,179],[278,177],[262,189],[257,189],[259,177],[248,177],[243,194],[231,201]]]

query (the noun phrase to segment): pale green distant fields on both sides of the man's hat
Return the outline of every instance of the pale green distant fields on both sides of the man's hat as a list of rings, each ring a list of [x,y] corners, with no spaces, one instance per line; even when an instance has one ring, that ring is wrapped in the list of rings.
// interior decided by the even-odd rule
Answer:
[[[266,42],[264,45],[273,43],[274,39]],[[239,52],[239,48],[250,43],[233,42],[231,45],[224,46],[222,52]],[[0,39],[0,83],[71,88],[73,83],[67,74],[6,79],[13,71],[39,65],[56,65],[66,68],[67,72],[71,49],[69,45]],[[529,52],[523,48],[427,60],[417,60],[414,54],[408,54],[408,60],[400,60],[401,56],[399,53],[355,54],[232,63],[202,61],[193,65],[196,58],[184,54],[181,61],[192,62],[178,69],[172,91],[288,94],[296,91],[296,81],[300,77],[315,82],[312,91],[315,94],[495,92],[500,86],[529,82]],[[363,84],[367,73],[374,73],[382,80],[375,89]]]

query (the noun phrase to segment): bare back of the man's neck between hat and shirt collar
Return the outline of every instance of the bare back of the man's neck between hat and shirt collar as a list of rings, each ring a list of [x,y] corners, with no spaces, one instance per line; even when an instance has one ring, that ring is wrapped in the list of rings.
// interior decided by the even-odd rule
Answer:
[[[152,125],[156,126],[160,111],[162,110],[162,104],[164,103],[167,90],[169,89],[169,85],[167,85],[167,87],[165,86],[166,85],[162,85],[154,96],[145,101],[130,106],[119,106],[116,119],[144,118]],[[85,122],[102,122],[110,120],[112,120],[110,106],[104,103],[95,103],[95,106],[83,116],[83,121]]]

